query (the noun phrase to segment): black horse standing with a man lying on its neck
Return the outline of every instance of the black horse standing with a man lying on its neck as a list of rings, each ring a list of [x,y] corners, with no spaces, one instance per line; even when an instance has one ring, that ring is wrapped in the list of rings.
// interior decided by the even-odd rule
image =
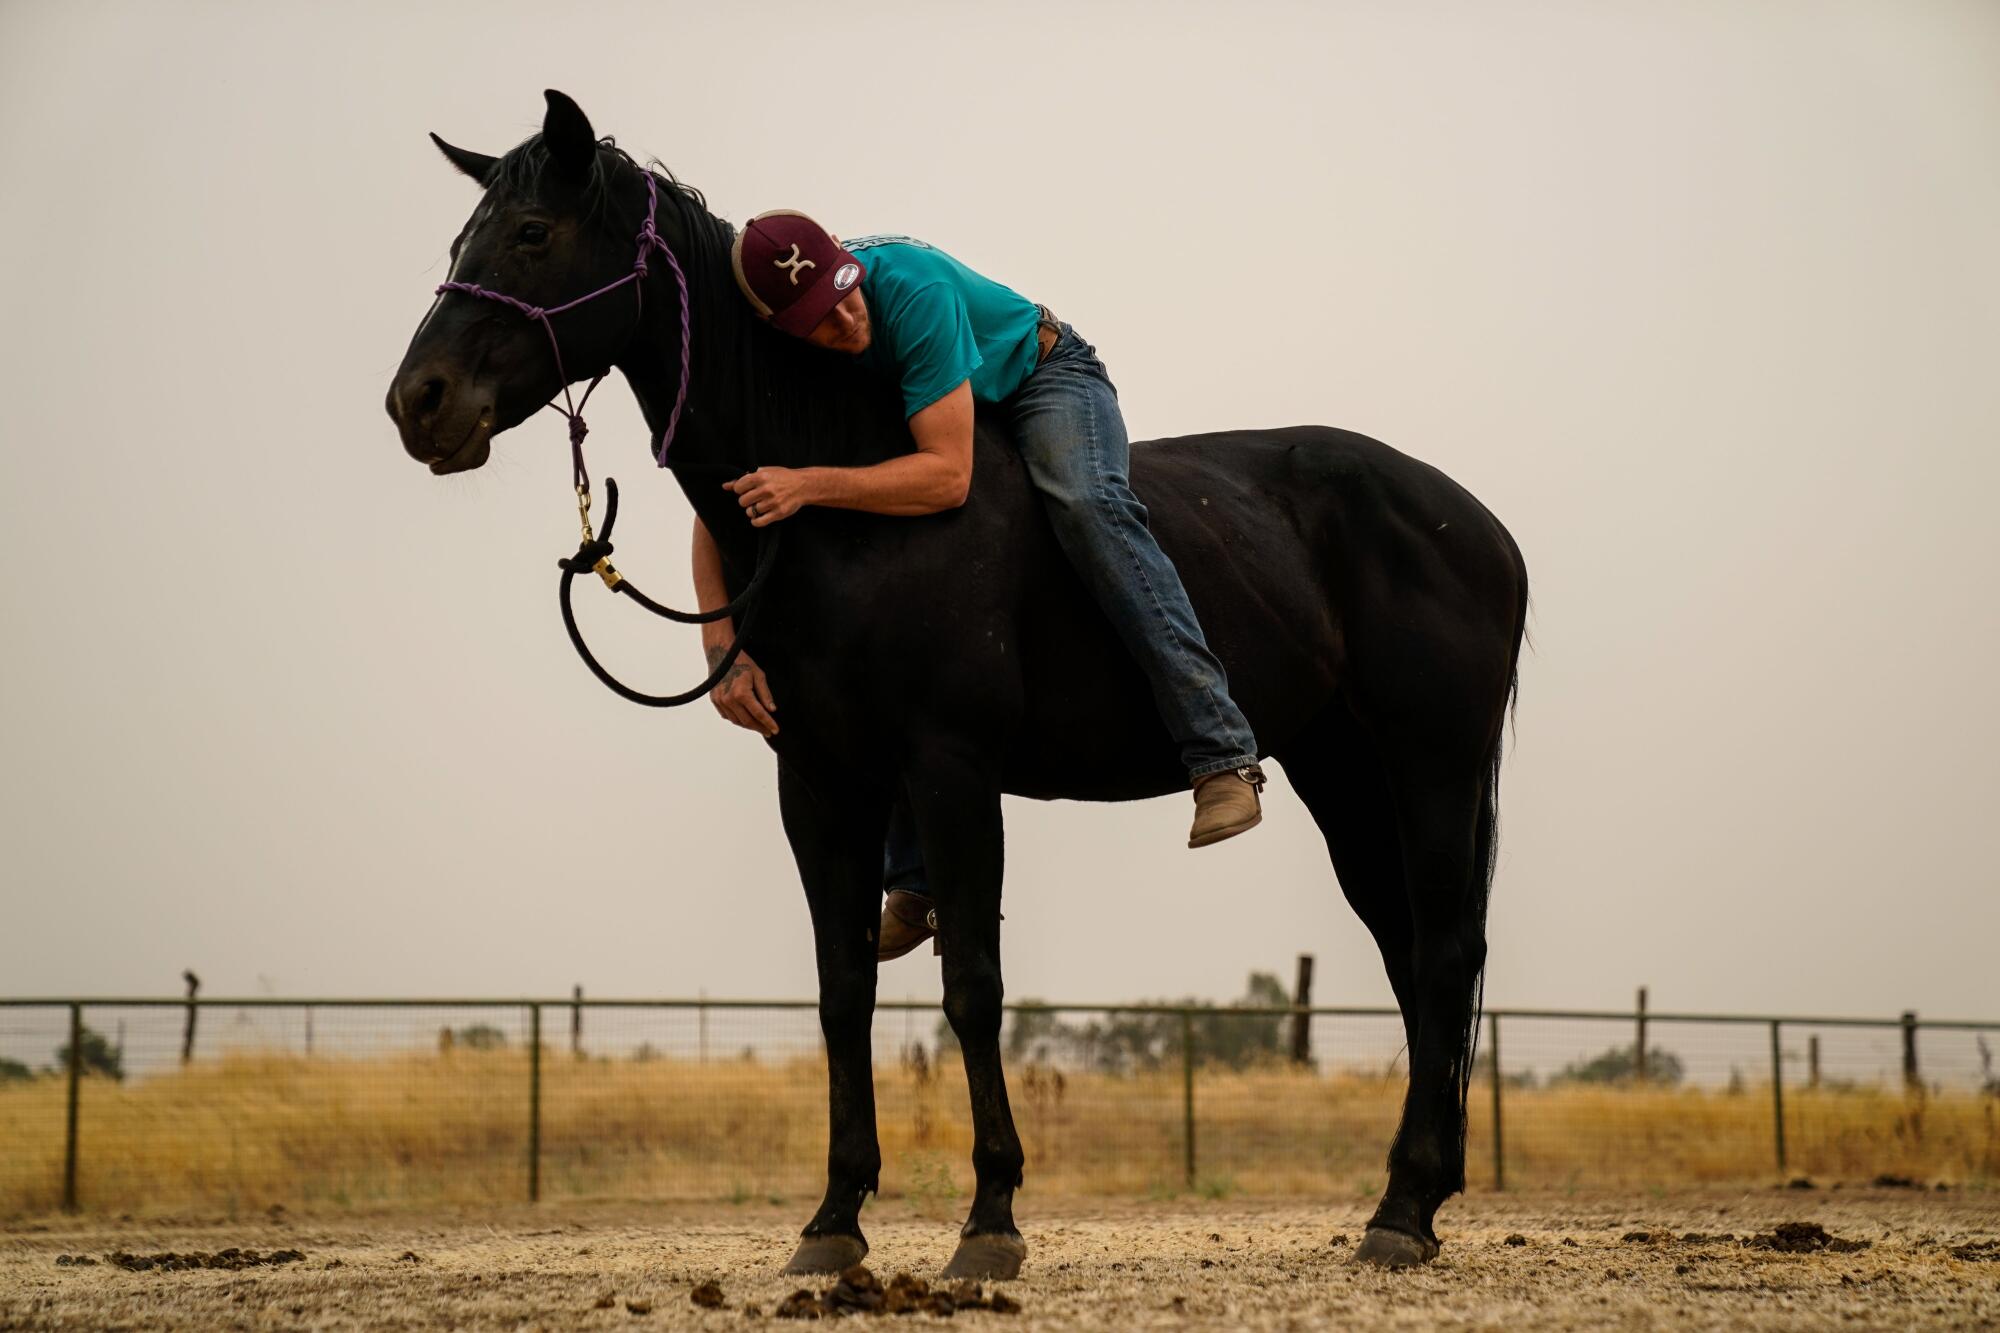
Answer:
[[[542,132],[500,158],[436,140],[484,186],[454,278],[554,306],[632,266],[646,178],[548,94]],[[910,436],[894,386],[758,322],[732,228],[664,172],[660,234],[688,274],[692,374],[676,480],[732,592],[758,548],[718,482],[756,464],[866,464]],[[674,278],[556,316],[572,380],[624,372],[656,436],[680,384]],[[560,390],[542,328],[448,292],[388,392],[432,472],[480,466],[490,436]],[[748,648],[784,701],[778,797],[820,973],[826,1199],[788,1271],[866,1253],[880,1171],[870,1027],[882,839],[906,797],[938,897],[944,1013],[964,1049],[978,1189],[948,1275],[1012,1277],[1022,1147],[1000,1067],[1000,795],[1134,801],[1186,791],[1152,693],[1056,550],[1042,502],[982,408],[970,500],[928,518],[808,508],[790,518]],[[1486,959],[1502,723],[1528,610],[1520,550],[1448,476],[1326,426],[1138,444],[1132,484],[1266,753],[1326,835],[1402,1007],[1410,1087],[1360,1259],[1438,1253],[1464,1187],[1466,1083]]]

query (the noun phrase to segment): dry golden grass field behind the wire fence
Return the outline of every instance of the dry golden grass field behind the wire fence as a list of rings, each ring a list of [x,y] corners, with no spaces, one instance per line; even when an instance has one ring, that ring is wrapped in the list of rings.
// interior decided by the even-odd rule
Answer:
[[[1012,1073],[1028,1183],[1066,1197],[1370,1201],[1400,1077],[1286,1067],[1196,1079],[1196,1177],[1182,1085],[1166,1075]],[[1492,1183],[1490,1091],[1474,1089],[1468,1175]],[[1506,1173],[1530,1189],[1772,1183],[1768,1089],[1506,1089]],[[884,1197],[952,1213],[970,1187],[962,1075],[878,1073]],[[826,1143],[818,1061],[570,1061],[546,1057],[544,1199],[746,1205],[816,1197]],[[1788,1093],[1788,1175],[1880,1175],[1972,1191],[2000,1181],[2000,1103],[1972,1093]],[[82,1087],[80,1201],[94,1211],[510,1203],[524,1199],[528,1057],[456,1051],[388,1059],[232,1055]],[[52,1211],[64,1085],[0,1085],[0,1217]]]

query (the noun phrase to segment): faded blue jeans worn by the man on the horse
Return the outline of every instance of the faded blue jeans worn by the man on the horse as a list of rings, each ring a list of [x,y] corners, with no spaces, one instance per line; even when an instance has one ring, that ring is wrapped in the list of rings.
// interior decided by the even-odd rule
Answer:
[[[1098,350],[1064,324],[1008,406],[1056,542],[1152,683],[1188,779],[1254,765],[1256,737],[1230,699],[1228,673],[1208,650],[1188,590],[1132,494],[1124,414]],[[886,885],[922,893],[924,859],[902,801],[890,817],[886,851]]]

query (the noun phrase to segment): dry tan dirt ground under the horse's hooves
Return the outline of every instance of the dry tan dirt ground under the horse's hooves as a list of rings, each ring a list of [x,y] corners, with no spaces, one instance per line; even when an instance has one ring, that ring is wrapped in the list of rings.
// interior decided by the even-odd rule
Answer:
[[[1020,1333],[2000,1327],[1994,1193],[1474,1195],[1440,1215],[1444,1255],[1404,1273],[1346,1261],[1366,1215],[1364,1203],[1022,1199],[1028,1267],[988,1287],[1020,1313],[962,1309],[956,1321]],[[544,1205],[16,1221],[0,1225],[0,1329],[770,1327],[804,1285],[778,1275],[804,1217],[768,1205]],[[1810,1253],[1784,1253],[1742,1243],[1782,1223],[1868,1245],[1814,1237],[1800,1241]],[[864,1227],[868,1265],[884,1281],[936,1277],[952,1253],[952,1223],[902,1201],[870,1203]],[[230,1263],[246,1267],[234,1269],[112,1261],[226,1249],[254,1249],[260,1263],[242,1253]],[[270,1265],[274,1251],[302,1257]],[[690,1299],[708,1281],[720,1287],[716,1309]]]

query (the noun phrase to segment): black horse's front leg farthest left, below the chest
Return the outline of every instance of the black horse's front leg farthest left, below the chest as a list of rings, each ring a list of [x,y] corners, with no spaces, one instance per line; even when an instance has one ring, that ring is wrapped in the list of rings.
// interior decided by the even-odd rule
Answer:
[[[838,1273],[868,1253],[860,1225],[862,1201],[882,1175],[870,1029],[888,795],[854,783],[852,775],[808,787],[790,767],[780,765],[778,805],[812,909],[830,1121],[826,1199],[806,1223],[784,1271]]]

